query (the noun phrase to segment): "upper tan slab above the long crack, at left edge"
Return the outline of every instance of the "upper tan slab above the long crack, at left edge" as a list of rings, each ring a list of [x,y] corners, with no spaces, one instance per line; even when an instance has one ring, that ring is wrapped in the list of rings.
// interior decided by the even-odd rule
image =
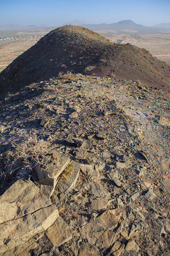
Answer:
[[[17,180],[0,196],[0,224],[51,205],[37,186],[28,180]]]

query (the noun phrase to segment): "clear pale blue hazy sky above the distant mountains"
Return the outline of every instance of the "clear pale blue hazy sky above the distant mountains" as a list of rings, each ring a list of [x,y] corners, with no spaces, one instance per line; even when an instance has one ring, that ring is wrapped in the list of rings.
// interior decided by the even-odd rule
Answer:
[[[170,0],[0,0],[0,24],[59,26],[72,20],[89,24],[133,20],[153,26],[170,22]]]

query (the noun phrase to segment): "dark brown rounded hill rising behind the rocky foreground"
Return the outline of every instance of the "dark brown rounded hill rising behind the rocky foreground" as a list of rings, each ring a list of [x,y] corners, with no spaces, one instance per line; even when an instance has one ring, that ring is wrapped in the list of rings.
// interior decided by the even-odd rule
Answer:
[[[140,80],[169,91],[170,68],[148,51],[129,44],[112,44],[91,30],[56,28],[18,56],[0,73],[1,94],[29,83],[72,71]]]

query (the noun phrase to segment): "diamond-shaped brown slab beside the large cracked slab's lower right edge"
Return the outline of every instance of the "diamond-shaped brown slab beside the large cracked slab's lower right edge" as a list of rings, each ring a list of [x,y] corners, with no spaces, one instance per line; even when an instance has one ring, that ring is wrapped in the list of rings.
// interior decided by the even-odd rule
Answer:
[[[68,242],[73,236],[73,232],[61,217],[47,229],[45,234],[54,246],[60,246],[61,244]]]

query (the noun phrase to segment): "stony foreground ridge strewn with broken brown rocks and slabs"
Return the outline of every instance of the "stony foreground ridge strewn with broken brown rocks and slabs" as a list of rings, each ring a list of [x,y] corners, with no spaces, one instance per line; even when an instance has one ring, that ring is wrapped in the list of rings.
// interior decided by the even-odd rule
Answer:
[[[0,113],[0,255],[169,255],[168,92],[77,74]]]

